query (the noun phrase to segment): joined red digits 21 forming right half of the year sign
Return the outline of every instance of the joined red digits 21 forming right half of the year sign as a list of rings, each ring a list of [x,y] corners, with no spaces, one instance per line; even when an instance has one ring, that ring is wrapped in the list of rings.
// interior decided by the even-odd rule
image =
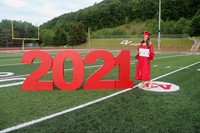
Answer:
[[[84,89],[113,89],[133,87],[130,79],[130,51],[123,50],[116,58],[105,50],[92,51],[84,59],[85,63],[93,64],[97,58],[103,58],[104,64],[86,80]],[[114,66],[119,66],[118,80],[102,80]]]

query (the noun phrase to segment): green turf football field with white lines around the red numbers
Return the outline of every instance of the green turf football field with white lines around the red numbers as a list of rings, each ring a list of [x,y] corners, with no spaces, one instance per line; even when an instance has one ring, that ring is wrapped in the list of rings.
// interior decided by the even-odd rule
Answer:
[[[76,50],[84,58],[91,50]],[[59,51],[48,51],[54,57]],[[120,50],[109,50],[118,55]],[[26,78],[39,65],[21,64],[24,52],[0,52],[0,72],[9,78]],[[131,79],[136,59],[131,51]],[[151,62],[151,79],[176,84],[175,92],[132,89],[62,91],[23,91],[21,85],[0,88],[0,132],[200,132],[200,54],[156,52]],[[85,66],[85,78],[103,60]],[[65,61],[65,80],[71,81],[72,62]],[[19,81],[3,81],[0,86]],[[117,79],[113,69],[105,79]],[[41,80],[52,80],[51,71]],[[84,84],[84,83],[83,83]]]

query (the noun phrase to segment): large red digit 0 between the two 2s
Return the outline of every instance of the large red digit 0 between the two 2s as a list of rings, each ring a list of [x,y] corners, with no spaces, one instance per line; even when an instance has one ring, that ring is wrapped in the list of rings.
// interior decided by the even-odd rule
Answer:
[[[71,83],[65,81],[64,78],[64,61],[66,58],[71,58],[73,63],[73,79]],[[76,90],[84,79],[84,64],[82,57],[75,51],[62,51],[54,57],[52,67],[54,83],[61,90]]]

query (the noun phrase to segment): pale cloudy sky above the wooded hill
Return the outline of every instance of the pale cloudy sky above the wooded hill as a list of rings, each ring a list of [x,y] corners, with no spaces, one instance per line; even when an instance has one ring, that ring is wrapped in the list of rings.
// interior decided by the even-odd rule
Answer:
[[[0,0],[2,19],[21,20],[36,26],[64,13],[75,12],[103,0]]]

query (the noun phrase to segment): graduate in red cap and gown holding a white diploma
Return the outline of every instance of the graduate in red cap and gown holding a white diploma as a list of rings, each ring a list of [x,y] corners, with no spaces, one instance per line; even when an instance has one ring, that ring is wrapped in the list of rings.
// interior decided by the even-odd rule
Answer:
[[[138,59],[135,78],[141,80],[139,88],[144,88],[146,81],[149,89],[152,86],[150,82],[150,61],[154,59],[154,48],[150,42],[150,35],[150,32],[143,32],[143,40],[138,45],[138,53],[135,56]]]

